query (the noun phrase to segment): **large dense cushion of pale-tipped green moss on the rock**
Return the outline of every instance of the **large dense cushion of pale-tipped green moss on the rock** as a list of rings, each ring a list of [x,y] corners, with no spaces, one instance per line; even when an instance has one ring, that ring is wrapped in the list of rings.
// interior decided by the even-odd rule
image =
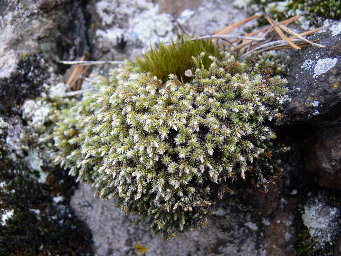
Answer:
[[[214,200],[232,194],[234,180],[265,192],[281,174],[275,155],[287,149],[272,145],[267,125],[290,101],[283,66],[256,53],[237,63],[215,44],[206,56],[201,41],[197,55],[181,54],[189,44],[160,45],[162,54],[191,60],[184,72],[170,69],[167,82],[144,72],[151,59],[127,62],[54,117],[57,162],[165,238],[207,226]]]

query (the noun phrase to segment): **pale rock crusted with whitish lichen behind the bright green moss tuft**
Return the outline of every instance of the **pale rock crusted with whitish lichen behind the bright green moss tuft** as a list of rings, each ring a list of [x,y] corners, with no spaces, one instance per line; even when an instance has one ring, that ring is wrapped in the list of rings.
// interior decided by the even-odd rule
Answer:
[[[183,4],[182,4],[183,3]],[[159,41],[176,39],[183,33],[176,22],[190,35],[211,34],[247,17],[233,7],[233,1],[146,1],[92,0],[95,31],[94,58],[121,60],[141,57]],[[174,16],[172,16],[173,14]],[[247,26],[255,25],[254,22]],[[238,33],[240,30],[233,31]],[[123,37],[123,38],[122,38]],[[127,41],[123,47],[122,40]]]

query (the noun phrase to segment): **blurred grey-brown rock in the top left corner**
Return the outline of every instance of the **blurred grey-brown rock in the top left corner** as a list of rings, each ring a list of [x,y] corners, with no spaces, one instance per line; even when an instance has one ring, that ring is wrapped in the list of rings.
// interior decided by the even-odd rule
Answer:
[[[26,55],[42,53],[57,69],[60,59],[89,51],[81,1],[5,0],[0,6],[0,78]]]

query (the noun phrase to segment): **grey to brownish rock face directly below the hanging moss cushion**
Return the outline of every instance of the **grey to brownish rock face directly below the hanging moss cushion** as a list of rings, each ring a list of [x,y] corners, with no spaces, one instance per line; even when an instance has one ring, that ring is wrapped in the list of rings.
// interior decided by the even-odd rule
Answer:
[[[94,190],[82,184],[75,191],[71,205],[93,232],[96,255],[135,255],[135,245],[148,247],[150,256],[161,255],[260,255],[262,239],[249,208],[221,204],[211,217],[209,227],[178,234],[170,241],[162,242],[162,235],[153,235],[140,223],[134,224],[135,215],[126,216],[115,208],[115,200],[105,201],[93,197]],[[242,208],[240,208],[242,207]]]

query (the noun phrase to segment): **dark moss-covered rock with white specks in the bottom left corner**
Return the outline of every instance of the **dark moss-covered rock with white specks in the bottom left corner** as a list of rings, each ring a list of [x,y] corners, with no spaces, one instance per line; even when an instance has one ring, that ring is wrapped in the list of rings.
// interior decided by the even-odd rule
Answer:
[[[46,170],[48,183],[38,183],[23,162],[12,160],[13,149],[0,144],[0,255],[93,255],[91,232],[68,204],[73,178],[65,170]],[[65,199],[55,202],[57,195]]]

